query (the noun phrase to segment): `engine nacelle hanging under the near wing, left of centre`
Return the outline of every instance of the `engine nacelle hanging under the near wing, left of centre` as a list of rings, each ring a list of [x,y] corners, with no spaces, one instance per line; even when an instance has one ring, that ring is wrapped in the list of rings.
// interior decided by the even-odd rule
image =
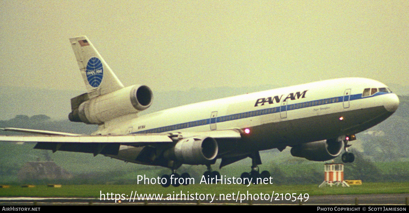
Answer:
[[[218,146],[214,138],[193,137],[177,142],[164,152],[164,157],[182,164],[205,165],[216,158],[217,153]]]

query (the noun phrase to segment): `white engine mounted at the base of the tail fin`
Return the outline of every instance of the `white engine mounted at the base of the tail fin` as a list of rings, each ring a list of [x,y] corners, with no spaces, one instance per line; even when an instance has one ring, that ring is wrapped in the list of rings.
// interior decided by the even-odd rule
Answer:
[[[80,95],[72,100],[70,121],[102,124],[122,115],[137,113],[151,106],[153,94],[149,87],[134,85],[87,100]],[[77,107],[75,107],[75,105]]]

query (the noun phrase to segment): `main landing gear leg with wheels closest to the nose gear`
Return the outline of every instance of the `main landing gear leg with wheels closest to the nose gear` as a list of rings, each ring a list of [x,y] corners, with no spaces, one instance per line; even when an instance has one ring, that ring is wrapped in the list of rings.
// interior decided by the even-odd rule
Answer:
[[[261,164],[260,153],[253,153],[252,155],[249,155],[249,157],[252,159],[252,171],[250,171],[250,173],[241,173],[240,178],[243,184],[248,185],[249,181],[251,181],[253,184],[258,184],[257,178],[264,180],[264,178],[269,178],[271,176],[269,171],[265,170],[260,173],[258,169],[258,165]]]

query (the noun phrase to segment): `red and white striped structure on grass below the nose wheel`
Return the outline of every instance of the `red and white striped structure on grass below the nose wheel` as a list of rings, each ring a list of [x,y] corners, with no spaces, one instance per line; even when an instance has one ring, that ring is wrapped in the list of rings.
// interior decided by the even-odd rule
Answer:
[[[324,164],[324,182],[318,187],[329,186],[349,186],[344,180],[344,164]]]

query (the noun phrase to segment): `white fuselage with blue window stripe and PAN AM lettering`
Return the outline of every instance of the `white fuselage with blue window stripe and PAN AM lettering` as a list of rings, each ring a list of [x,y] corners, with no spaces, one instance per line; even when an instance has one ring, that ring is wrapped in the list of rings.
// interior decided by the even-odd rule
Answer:
[[[140,117],[126,115],[100,125],[95,134],[240,129],[246,137],[236,149],[220,153],[218,158],[242,155],[355,134],[382,122],[398,107],[398,97],[380,91],[363,97],[367,88],[387,86],[365,78],[324,80],[179,106]],[[140,150],[121,146],[117,158],[135,162]]]

